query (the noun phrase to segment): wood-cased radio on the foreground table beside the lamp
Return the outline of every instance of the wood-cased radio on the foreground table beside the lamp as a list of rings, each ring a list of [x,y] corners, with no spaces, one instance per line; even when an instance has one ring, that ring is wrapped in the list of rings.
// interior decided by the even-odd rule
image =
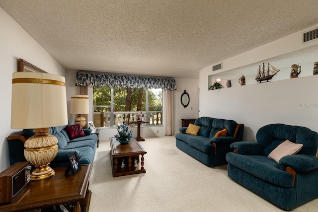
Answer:
[[[30,184],[31,165],[18,162],[0,173],[0,204],[11,203]]]

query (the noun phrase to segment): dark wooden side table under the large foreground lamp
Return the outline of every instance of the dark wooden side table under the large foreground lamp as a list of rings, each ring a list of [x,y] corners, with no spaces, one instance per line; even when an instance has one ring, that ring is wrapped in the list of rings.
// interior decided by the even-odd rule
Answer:
[[[74,203],[74,212],[88,212],[91,191],[88,190],[92,164],[81,165],[76,175],[65,175],[66,167],[54,168],[51,178],[31,181],[10,204],[0,205],[0,212],[17,212]]]

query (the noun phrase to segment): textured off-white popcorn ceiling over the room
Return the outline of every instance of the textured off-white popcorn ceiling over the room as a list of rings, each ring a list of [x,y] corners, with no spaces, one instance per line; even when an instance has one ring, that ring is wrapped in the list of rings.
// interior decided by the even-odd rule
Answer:
[[[317,0],[0,0],[65,69],[198,78],[318,23]]]

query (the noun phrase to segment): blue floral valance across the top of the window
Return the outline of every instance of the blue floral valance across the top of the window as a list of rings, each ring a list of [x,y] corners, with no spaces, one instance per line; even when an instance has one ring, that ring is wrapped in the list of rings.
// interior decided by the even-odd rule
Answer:
[[[162,88],[176,90],[174,78],[117,75],[109,73],[96,73],[78,71],[76,73],[76,85],[81,86],[108,86],[127,88]]]

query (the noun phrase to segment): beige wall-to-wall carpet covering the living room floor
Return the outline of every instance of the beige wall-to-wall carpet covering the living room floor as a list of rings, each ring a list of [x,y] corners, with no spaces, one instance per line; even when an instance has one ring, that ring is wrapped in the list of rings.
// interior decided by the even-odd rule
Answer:
[[[232,181],[227,166],[208,167],[175,146],[174,136],[146,138],[146,173],[112,177],[109,141],[100,141],[89,212],[281,212]],[[318,199],[294,209],[317,212]]]

